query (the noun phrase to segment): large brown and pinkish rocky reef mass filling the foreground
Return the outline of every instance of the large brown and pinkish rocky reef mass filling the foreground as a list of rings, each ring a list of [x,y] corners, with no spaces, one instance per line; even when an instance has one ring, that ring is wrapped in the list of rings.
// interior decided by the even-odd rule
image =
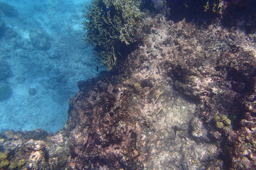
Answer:
[[[0,168],[255,169],[255,33],[158,15],[140,36],[78,82],[63,130],[2,133]]]

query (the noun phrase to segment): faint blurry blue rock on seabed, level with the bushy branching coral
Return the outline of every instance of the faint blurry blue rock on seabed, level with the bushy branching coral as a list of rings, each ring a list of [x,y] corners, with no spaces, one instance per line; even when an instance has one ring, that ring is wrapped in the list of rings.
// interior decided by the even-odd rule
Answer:
[[[47,51],[50,50],[50,36],[45,30],[31,30],[29,34],[33,47],[38,50]]]

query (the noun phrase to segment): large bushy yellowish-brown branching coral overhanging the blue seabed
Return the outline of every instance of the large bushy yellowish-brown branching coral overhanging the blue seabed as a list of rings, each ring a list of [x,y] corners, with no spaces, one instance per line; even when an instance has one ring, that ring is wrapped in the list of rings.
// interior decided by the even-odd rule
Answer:
[[[144,13],[140,0],[93,0],[85,11],[85,41],[95,45],[97,56],[110,70],[117,62],[119,44],[136,42],[138,22]]]

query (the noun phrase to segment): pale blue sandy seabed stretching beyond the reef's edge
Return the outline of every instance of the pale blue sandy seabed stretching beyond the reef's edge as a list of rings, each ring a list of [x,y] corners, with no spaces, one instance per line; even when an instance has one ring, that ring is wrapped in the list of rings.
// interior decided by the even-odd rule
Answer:
[[[82,42],[82,10],[90,1],[0,2],[18,11],[18,16],[0,13],[8,30],[0,38],[0,61],[11,69],[0,86],[12,89],[11,97],[0,101],[0,132],[56,132],[68,119],[68,101],[78,91],[77,82],[97,76],[92,47]]]

